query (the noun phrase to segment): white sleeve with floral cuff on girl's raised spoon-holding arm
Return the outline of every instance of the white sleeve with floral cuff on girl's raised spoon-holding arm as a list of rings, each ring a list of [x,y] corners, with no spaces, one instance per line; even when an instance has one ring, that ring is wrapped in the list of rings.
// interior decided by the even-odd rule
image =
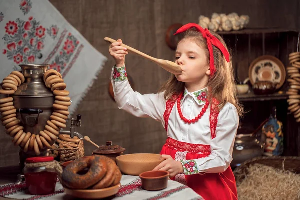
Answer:
[[[125,65],[112,68],[111,83],[118,108],[137,117],[162,121],[166,102],[164,93],[142,95],[134,92],[128,82]]]

